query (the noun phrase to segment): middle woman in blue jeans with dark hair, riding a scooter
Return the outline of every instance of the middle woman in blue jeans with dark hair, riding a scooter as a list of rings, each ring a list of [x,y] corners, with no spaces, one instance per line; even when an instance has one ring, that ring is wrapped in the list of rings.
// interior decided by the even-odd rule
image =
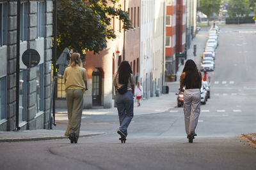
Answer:
[[[113,86],[116,92],[116,107],[120,127],[117,131],[120,134],[120,141],[126,140],[127,128],[133,117],[133,94],[135,78],[132,75],[132,69],[128,61],[122,61],[113,80]]]

